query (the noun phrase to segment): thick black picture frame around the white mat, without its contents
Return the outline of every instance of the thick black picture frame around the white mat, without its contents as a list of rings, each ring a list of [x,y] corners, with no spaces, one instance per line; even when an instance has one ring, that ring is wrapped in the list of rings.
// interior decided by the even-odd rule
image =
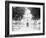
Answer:
[[[10,3],[43,5],[43,33],[10,35],[9,34],[9,4]],[[45,3],[5,1],[5,37],[37,36],[37,35],[44,35],[44,34],[45,34]]]

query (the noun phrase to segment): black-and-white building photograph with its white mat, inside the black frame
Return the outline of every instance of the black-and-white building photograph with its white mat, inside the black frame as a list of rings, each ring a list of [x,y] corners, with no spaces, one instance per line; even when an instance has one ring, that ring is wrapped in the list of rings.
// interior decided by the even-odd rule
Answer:
[[[43,5],[9,3],[9,35],[43,33]]]

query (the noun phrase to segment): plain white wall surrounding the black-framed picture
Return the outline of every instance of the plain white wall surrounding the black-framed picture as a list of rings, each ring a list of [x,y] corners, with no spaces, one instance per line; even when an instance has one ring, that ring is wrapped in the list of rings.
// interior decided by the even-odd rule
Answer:
[[[17,0],[17,1],[42,2],[42,3],[45,2],[45,0]],[[5,36],[5,0],[0,0],[0,38],[4,38],[4,36]],[[46,38],[46,35],[14,37],[14,38]]]

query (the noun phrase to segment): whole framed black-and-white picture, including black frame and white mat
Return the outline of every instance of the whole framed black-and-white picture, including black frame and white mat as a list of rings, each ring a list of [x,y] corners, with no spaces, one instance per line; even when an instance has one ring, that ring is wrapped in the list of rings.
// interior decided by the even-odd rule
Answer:
[[[45,34],[44,3],[5,1],[5,37]]]

